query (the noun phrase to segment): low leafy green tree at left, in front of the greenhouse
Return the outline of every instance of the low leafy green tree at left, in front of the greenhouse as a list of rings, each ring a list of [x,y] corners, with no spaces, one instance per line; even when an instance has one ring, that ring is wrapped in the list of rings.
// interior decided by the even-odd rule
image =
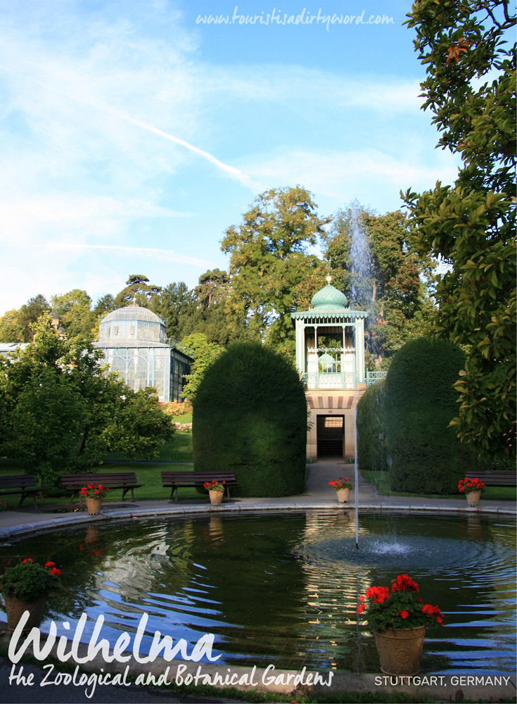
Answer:
[[[148,457],[174,428],[153,389],[135,394],[101,367],[103,353],[62,338],[49,316],[32,344],[0,357],[0,448],[46,486],[89,469],[110,450]]]

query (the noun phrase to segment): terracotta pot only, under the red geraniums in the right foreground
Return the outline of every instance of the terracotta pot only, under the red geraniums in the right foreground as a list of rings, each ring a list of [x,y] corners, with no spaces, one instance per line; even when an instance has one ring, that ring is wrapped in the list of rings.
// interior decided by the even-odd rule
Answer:
[[[426,627],[374,631],[384,674],[411,676],[419,672]]]

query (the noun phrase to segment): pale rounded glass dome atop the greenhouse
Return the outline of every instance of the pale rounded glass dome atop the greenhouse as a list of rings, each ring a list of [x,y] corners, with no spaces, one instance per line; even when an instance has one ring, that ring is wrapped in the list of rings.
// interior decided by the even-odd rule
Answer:
[[[165,320],[148,308],[126,306],[108,313],[98,329],[99,342],[165,342]]]

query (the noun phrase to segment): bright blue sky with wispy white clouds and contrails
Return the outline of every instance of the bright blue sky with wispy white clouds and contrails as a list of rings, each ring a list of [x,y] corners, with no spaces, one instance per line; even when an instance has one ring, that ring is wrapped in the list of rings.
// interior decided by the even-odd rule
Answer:
[[[0,0],[0,315],[196,286],[300,185],[321,217],[454,181],[400,0]]]

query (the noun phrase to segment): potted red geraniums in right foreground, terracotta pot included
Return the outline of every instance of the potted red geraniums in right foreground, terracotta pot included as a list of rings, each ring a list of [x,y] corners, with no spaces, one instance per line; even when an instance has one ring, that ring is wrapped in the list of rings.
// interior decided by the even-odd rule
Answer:
[[[359,598],[359,615],[374,631],[385,674],[411,676],[419,672],[426,626],[443,625],[438,606],[425,604],[416,596],[419,585],[407,574],[399,574],[387,586],[371,586]]]

